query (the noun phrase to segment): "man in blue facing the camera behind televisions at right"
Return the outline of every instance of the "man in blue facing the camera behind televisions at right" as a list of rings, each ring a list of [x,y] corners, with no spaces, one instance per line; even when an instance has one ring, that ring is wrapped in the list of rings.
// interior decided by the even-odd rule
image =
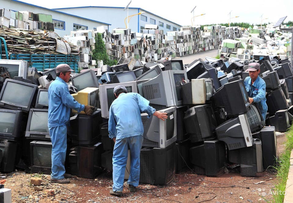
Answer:
[[[266,105],[266,83],[258,76],[260,73],[259,63],[248,64],[249,76],[244,80],[244,85],[248,92],[249,102],[256,103],[260,112],[262,113],[262,118],[266,120],[266,112],[268,111],[268,106]]]

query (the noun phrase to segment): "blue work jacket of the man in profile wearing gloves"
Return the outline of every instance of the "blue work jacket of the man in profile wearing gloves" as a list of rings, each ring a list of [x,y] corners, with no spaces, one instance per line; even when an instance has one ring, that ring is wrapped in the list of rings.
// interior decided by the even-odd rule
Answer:
[[[49,111],[48,127],[64,126],[69,123],[70,109],[78,112],[84,110],[84,105],[78,103],[69,93],[68,84],[56,77],[48,90]]]

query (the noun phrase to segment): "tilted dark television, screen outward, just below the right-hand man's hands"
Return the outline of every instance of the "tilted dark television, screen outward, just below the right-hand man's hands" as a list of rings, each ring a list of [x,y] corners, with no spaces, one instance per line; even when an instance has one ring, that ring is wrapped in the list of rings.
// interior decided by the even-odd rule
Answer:
[[[256,103],[251,104],[251,108],[247,111],[246,115],[251,132],[256,132],[266,125],[265,118],[262,118]]]

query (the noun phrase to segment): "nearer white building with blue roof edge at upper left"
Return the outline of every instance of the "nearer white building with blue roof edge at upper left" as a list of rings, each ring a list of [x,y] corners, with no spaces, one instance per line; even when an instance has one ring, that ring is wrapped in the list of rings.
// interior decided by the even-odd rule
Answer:
[[[101,22],[99,20],[93,20],[90,15],[86,16],[83,14],[78,15],[73,13],[66,13],[66,11],[62,12],[58,10],[48,9],[17,0],[0,0],[0,8],[10,9],[13,11],[30,11],[32,13],[44,13],[52,15],[55,27],[54,30],[61,37],[63,37],[64,35],[69,35],[70,31],[73,30],[92,30],[93,28],[96,28],[98,26],[104,25],[108,27],[111,25],[110,23],[108,23],[109,21],[111,21],[110,19],[106,19],[106,21]]]

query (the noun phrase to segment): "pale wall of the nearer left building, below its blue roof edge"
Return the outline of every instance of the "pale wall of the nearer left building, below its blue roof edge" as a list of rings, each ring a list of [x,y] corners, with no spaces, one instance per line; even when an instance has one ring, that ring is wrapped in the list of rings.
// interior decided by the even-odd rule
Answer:
[[[64,35],[69,35],[70,31],[73,30],[73,24],[85,25],[85,26],[88,26],[88,29],[93,29],[93,28],[96,28],[101,25],[107,25],[107,24],[98,23],[95,21],[82,19],[79,17],[74,17],[71,15],[66,15],[63,13],[53,11],[51,9],[39,8],[36,6],[27,5],[27,4],[23,4],[20,2],[14,2],[11,0],[0,0],[0,5],[1,5],[0,6],[1,8],[11,9],[14,11],[30,11],[33,13],[50,14],[50,15],[52,15],[52,18],[54,20],[64,21],[65,22],[65,30],[55,28],[55,32],[60,37],[63,37]],[[82,16],[82,17],[84,17],[84,16]]]

